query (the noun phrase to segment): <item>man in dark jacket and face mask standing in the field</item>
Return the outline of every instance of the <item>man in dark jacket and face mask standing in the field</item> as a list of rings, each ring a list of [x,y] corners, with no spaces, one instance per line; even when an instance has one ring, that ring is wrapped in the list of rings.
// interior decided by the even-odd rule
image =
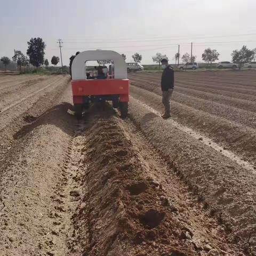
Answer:
[[[162,102],[164,105],[164,114],[162,117],[167,119],[171,117],[170,99],[174,88],[174,71],[166,59],[162,59],[161,63],[164,70],[161,79]]]

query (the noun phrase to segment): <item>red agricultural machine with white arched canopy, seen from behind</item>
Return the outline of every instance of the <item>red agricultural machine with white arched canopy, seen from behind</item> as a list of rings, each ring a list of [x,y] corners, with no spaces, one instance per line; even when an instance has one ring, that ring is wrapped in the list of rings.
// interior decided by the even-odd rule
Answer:
[[[111,60],[111,76],[90,76],[86,72],[86,61]],[[104,68],[101,68],[104,70]],[[121,117],[126,117],[129,102],[129,79],[127,79],[126,63],[122,55],[114,51],[84,51],[76,55],[72,63],[72,92],[76,116],[82,116],[92,102],[112,101],[114,108],[119,108]],[[105,68],[106,70],[106,68]],[[106,71],[105,71],[106,72]],[[89,74],[89,75],[88,75]]]

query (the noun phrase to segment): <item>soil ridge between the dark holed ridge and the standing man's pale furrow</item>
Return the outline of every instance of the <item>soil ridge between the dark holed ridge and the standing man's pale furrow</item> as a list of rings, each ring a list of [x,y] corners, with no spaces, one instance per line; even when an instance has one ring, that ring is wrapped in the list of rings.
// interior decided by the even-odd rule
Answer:
[[[166,157],[210,214],[225,225],[230,241],[243,248],[246,255],[254,255],[255,174],[178,130],[137,101],[131,99],[130,103],[130,117],[151,145]]]

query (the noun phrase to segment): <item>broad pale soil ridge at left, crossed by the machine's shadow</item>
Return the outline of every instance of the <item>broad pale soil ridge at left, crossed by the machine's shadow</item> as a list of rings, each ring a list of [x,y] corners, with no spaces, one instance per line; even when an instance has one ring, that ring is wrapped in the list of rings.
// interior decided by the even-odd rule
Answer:
[[[70,255],[79,152],[70,86],[0,160],[0,255]],[[62,102],[62,103],[61,103]],[[33,156],[33,157],[31,157]]]

